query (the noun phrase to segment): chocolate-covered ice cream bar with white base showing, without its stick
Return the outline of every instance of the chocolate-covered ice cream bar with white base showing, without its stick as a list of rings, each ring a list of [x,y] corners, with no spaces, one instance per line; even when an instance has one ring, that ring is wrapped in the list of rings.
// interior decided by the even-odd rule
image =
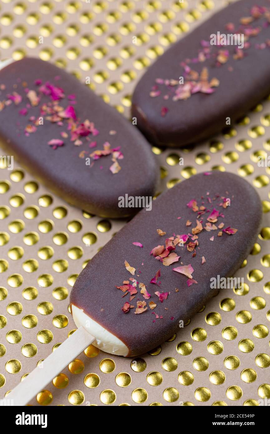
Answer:
[[[208,172],[176,185],[81,272],[70,296],[75,324],[105,352],[155,348],[219,288],[238,286],[227,278],[249,254],[261,215],[257,192],[234,174]]]

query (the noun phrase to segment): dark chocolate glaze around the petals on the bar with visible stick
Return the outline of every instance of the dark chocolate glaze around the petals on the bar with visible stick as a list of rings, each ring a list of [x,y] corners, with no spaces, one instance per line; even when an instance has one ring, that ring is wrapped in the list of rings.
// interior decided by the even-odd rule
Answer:
[[[224,228],[231,226],[238,231],[234,235],[223,233],[218,237],[218,230],[203,230],[198,234],[199,249],[196,249],[196,256],[192,257],[186,245],[177,246],[175,252],[181,258],[178,263],[170,266],[164,266],[150,256],[153,247],[165,245],[165,239],[173,233],[181,235],[191,232],[192,227],[196,226],[197,214],[186,204],[193,199],[199,201],[201,196],[206,199],[207,192],[210,198],[215,194],[231,198],[231,206],[224,210],[224,218],[218,217],[217,224],[223,221]],[[215,205],[222,212],[219,203],[216,200],[209,207],[205,206],[212,210]],[[208,216],[209,213],[202,216],[203,226]],[[218,293],[218,289],[210,289],[211,277],[230,277],[236,272],[256,240],[261,216],[260,198],[244,179],[221,172],[212,172],[209,176],[195,175],[161,194],[153,202],[151,211],[140,211],[94,256],[78,276],[70,303],[84,309],[88,316],[121,339],[129,348],[128,356],[143,354],[169,339],[178,330],[179,320],[188,320],[208,299]],[[192,226],[186,227],[188,219],[192,221]],[[160,237],[156,229],[166,231],[166,235]],[[210,241],[213,235],[214,241]],[[142,243],[143,248],[134,246],[134,241]],[[202,256],[206,259],[204,264]],[[134,314],[135,309],[130,309],[128,313],[122,312],[121,307],[129,301],[129,294],[122,298],[123,293],[115,285],[120,286],[124,280],[132,277],[125,269],[125,260],[136,268],[134,277],[138,282],[144,283],[151,294],[150,299],[145,300],[147,306],[150,301],[156,302],[154,312],[162,315],[163,319],[153,322],[155,315],[149,308],[141,314]],[[192,264],[193,278],[198,284],[188,287],[188,278],[172,270],[181,266],[181,261],[184,265]],[[158,280],[161,284],[157,286],[150,283],[150,280],[159,269],[161,277]],[[176,288],[179,288],[179,292],[175,292]],[[138,294],[130,302],[135,306],[138,299],[144,300],[138,286],[137,289]],[[155,295],[156,291],[170,294],[161,303]]]

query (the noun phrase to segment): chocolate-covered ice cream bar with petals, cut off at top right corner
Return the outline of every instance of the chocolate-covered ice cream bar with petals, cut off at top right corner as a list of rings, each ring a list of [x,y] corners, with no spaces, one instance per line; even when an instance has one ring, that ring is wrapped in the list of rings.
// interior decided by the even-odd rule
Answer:
[[[270,93],[270,1],[230,4],[174,44],[137,84],[132,115],[151,142],[220,132]]]

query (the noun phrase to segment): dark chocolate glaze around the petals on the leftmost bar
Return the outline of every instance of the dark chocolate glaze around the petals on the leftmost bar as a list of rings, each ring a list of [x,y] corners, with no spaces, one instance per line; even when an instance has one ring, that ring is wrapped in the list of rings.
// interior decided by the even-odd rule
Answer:
[[[60,79],[55,81],[55,76]],[[21,81],[17,82],[18,79]],[[67,95],[75,94],[77,117],[81,122],[85,119],[94,122],[95,128],[99,130],[98,136],[89,136],[91,141],[97,141],[96,148],[90,149],[89,141],[83,137],[81,146],[75,146],[67,138],[63,139],[65,144],[61,148],[52,149],[48,141],[62,139],[60,133],[67,128],[46,120],[44,125],[37,127],[35,133],[26,137],[24,128],[29,123],[29,116],[38,117],[40,105],[31,107],[27,116],[19,115],[19,110],[26,106],[26,102],[29,103],[22,83],[26,82],[29,89],[36,90],[36,79],[42,79],[42,83],[52,82],[64,90],[65,99],[59,101],[64,108],[70,104]],[[119,196],[154,194],[158,170],[143,135],[74,76],[40,59],[24,58],[0,70],[0,84],[6,86],[1,92],[0,101],[13,91],[23,96],[20,105],[13,103],[0,111],[1,146],[55,194],[72,205],[102,217],[125,217],[138,211],[138,208],[118,207]],[[14,84],[17,85],[16,89],[13,88]],[[42,102],[47,101],[49,97],[42,98]],[[117,133],[109,135],[111,130]],[[110,155],[95,161],[93,167],[87,166],[85,158],[78,156],[82,150],[89,154],[96,149],[103,149],[106,141],[111,148],[120,146],[124,155],[124,159],[119,160],[121,170],[117,174],[109,170],[112,164]],[[102,170],[100,166],[103,166]]]

